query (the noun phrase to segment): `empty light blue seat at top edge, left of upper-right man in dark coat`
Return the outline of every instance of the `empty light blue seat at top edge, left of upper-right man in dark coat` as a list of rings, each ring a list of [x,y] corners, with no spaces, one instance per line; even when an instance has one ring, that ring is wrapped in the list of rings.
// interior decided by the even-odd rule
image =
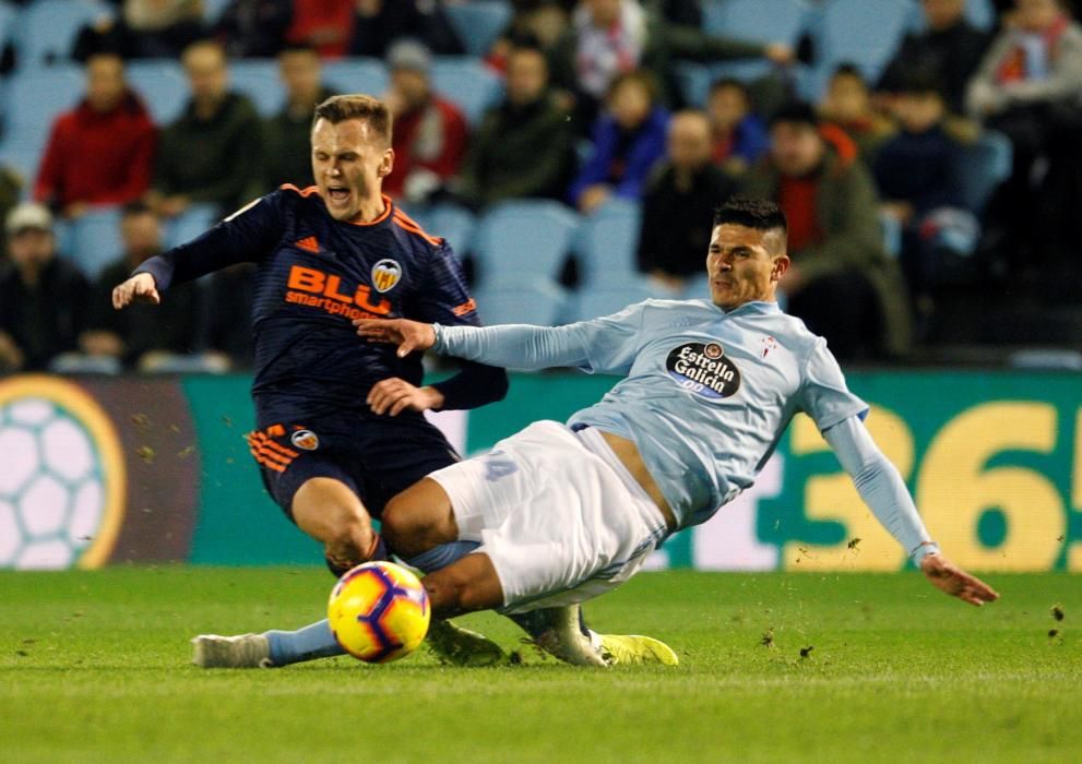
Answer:
[[[808,89],[818,99],[837,64],[855,63],[875,81],[912,23],[908,0],[825,0],[818,19],[817,62]]]

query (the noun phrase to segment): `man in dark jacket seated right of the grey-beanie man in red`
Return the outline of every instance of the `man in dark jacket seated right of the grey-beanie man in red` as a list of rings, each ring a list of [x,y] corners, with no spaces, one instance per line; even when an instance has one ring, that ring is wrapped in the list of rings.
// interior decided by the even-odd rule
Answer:
[[[507,62],[507,97],[471,141],[460,194],[476,206],[523,196],[562,199],[574,171],[574,129],[548,86],[540,49],[516,46]]]

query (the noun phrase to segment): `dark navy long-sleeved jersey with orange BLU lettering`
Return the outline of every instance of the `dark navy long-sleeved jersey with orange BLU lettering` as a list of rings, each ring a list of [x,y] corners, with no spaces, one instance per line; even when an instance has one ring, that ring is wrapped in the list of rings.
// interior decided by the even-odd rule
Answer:
[[[284,186],[136,270],[165,290],[235,263],[257,264],[252,396],[260,427],[367,411],[369,389],[389,377],[421,384],[421,354],[399,358],[393,345],[361,339],[353,319],[478,324],[451,247],[383,201],[378,219],[344,223],[328,214],[314,186]],[[507,374],[466,362],[433,386],[444,408],[472,408],[503,397]]]

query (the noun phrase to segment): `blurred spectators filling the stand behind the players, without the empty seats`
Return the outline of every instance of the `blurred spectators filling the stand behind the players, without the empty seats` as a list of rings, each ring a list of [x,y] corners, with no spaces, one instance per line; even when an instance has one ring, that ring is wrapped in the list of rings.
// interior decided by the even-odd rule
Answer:
[[[311,109],[341,89],[322,67],[350,57],[387,72],[377,95],[395,117],[396,159],[385,189],[411,214],[477,219],[546,199],[587,219],[631,203],[641,234],[628,266],[658,297],[679,297],[697,294],[711,208],[737,193],[771,196],[789,220],[786,309],[842,359],[979,341],[977,330],[952,335],[967,295],[1082,303],[1078,3],[989,0],[997,15],[982,31],[966,0],[914,0],[916,21],[881,73],[837,61],[808,103],[796,74],[821,55],[813,36],[706,31],[704,5],[725,1],[512,0],[479,57],[503,86],[475,119],[433,77],[435,61],[468,49],[451,17],[467,0],[231,0],[214,23],[202,0],[112,2],[73,38],[85,89],[41,127],[34,177],[0,168],[0,373],[176,371],[185,358],[201,370],[246,368],[243,267],[170,290],[157,309],[115,314],[108,291],[190,208],[221,215],[278,184],[309,184]],[[272,57],[283,106],[267,115],[229,69]],[[126,68],[143,59],[182,67],[187,102],[170,122],[155,123],[148,94],[129,84]],[[713,72],[699,93],[680,76],[689,61]],[[710,68],[723,61],[759,69]],[[20,61],[11,43],[4,62],[8,76],[49,65]],[[961,174],[989,135],[1010,147],[1010,164],[975,196]],[[81,274],[58,256],[58,231],[105,207],[118,211],[122,251]],[[562,280],[575,288],[573,262]]]

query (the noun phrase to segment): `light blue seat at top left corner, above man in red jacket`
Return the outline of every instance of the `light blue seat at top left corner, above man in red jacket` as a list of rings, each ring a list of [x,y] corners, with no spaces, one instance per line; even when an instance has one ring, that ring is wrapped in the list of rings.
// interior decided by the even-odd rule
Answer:
[[[97,0],[37,0],[19,17],[20,69],[68,61],[79,31],[112,13]]]

